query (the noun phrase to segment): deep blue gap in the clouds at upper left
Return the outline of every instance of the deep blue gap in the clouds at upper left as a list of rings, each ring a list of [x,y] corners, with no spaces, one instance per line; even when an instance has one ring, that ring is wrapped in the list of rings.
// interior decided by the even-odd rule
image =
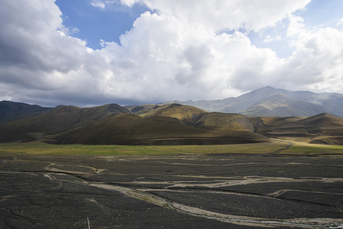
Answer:
[[[100,49],[100,39],[114,41],[120,44],[119,36],[130,30],[133,22],[149,9],[142,4],[133,7],[116,5],[109,9],[93,7],[89,0],[57,0],[63,13],[63,25],[79,29],[74,34],[87,41],[87,46],[92,49]]]

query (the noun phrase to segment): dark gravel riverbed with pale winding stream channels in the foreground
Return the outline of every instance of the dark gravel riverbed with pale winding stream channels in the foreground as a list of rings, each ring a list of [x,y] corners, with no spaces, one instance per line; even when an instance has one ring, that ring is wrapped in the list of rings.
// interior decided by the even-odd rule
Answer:
[[[0,153],[0,228],[341,228],[343,158]]]

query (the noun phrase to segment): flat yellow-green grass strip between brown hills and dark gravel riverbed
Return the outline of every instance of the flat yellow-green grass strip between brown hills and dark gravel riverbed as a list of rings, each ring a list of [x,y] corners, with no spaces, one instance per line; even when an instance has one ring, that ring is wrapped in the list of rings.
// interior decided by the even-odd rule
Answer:
[[[52,145],[41,142],[2,143],[1,152],[25,154],[81,154],[104,156],[170,154],[280,154],[292,156],[343,155],[343,146],[306,144],[274,140],[273,142],[237,145],[119,146],[119,145]]]

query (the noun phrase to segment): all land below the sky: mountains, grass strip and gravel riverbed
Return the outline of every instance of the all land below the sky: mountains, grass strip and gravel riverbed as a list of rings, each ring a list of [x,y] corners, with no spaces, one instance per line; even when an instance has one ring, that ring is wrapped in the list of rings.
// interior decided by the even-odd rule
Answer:
[[[0,101],[0,228],[341,228],[340,94],[225,101]]]

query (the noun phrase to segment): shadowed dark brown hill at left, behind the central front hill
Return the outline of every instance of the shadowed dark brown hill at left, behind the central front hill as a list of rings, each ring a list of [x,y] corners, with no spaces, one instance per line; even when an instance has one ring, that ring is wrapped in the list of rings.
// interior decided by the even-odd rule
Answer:
[[[129,110],[117,104],[80,108],[62,106],[45,114],[0,125],[0,142],[32,141],[44,136],[79,128]]]

